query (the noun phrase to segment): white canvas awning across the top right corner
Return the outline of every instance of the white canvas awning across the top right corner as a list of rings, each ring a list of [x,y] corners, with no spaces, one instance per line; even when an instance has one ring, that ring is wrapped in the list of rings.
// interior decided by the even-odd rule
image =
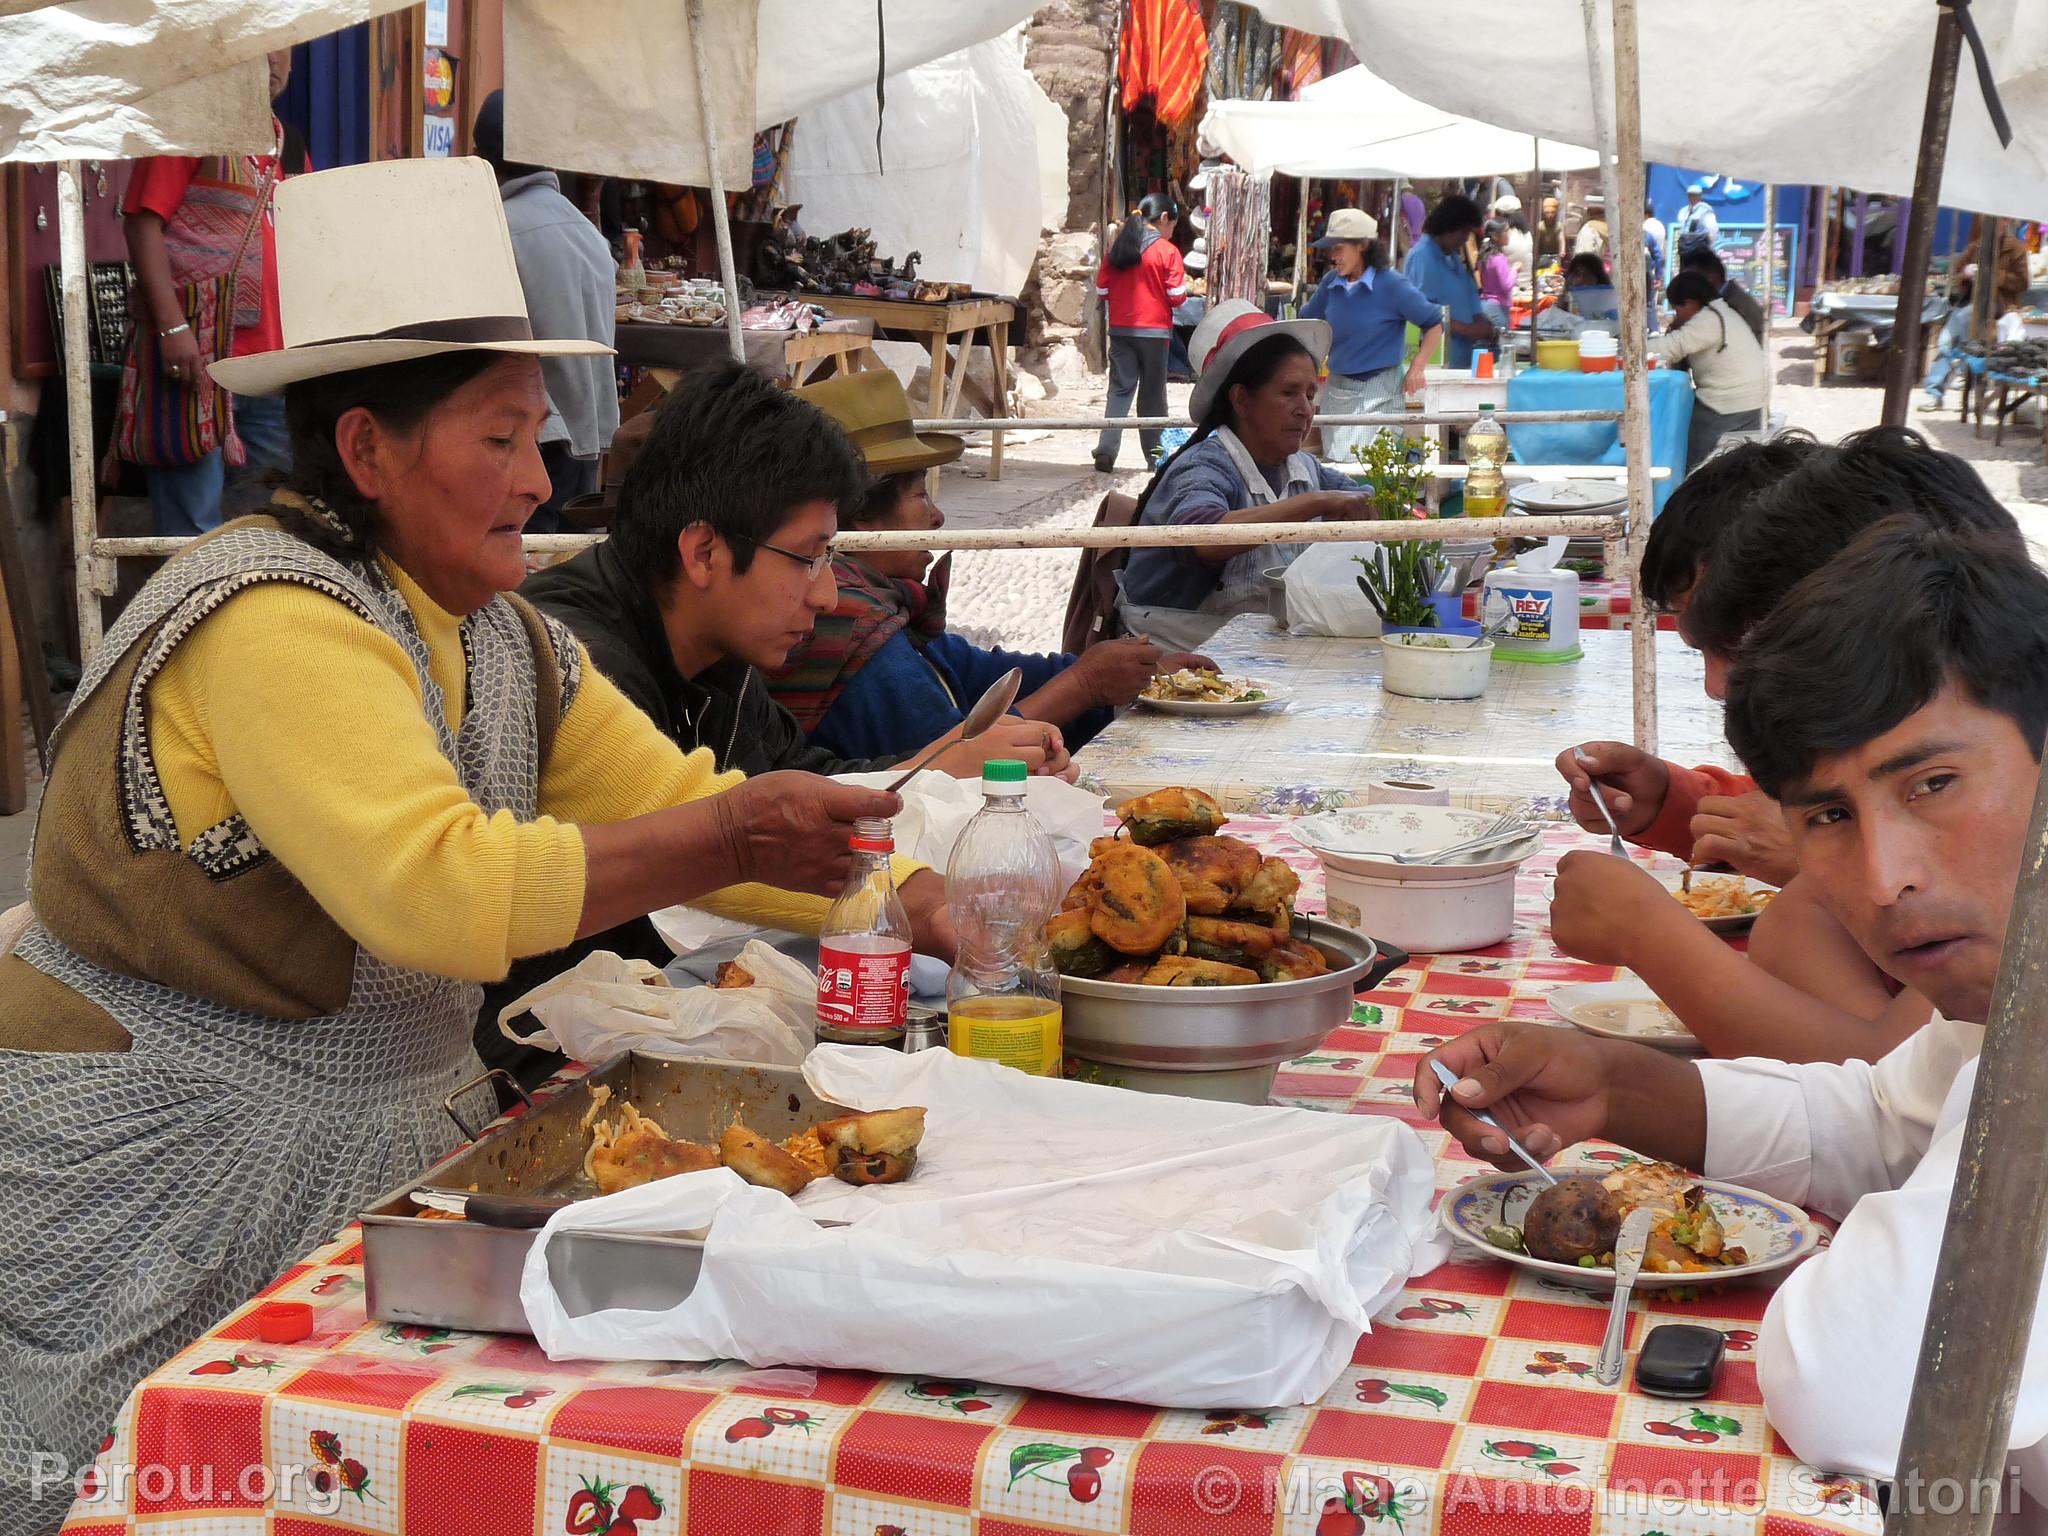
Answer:
[[[1964,55],[1942,203],[2048,217],[2048,6],[1974,0],[1999,96],[2001,147]],[[1348,37],[1384,80],[1448,113],[1522,133],[1595,139],[1579,0],[1266,0],[1274,25]],[[1925,0],[1716,0],[1640,6],[1642,154],[1767,182],[1913,193],[1939,6]],[[1602,35],[1608,35],[1606,14]],[[1499,39],[1475,68],[1473,39]]]

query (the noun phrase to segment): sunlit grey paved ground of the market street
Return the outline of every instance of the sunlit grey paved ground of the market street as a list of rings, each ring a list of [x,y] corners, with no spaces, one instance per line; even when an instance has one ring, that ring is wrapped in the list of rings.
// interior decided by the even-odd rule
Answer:
[[[1874,426],[1882,408],[1876,387],[1815,385],[1812,344],[1796,326],[1776,332],[1778,377],[1774,410],[1792,426],[1821,438],[1839,438]],[[1950,399],[1954,401],[1954,393]],[[1171,408],[1186,410],[1188,389],[1171,389]],[[1087,410],[1100,410],[1100,397]],[[1075,414],[1085,414],[1075,401]],[[2009,426],[2003,444],[1993,444],[1987,428],[1974,438],[1954,406],[1927,416],[1915,391],[1913,426],[1935,446],[1960,453],[1982,473],[1991,492],[2013,508],[2036,549],[2048,563],[2048,463],[2042,461],[2042,424],[2028,408]],[[1090,463],[1094,436],[1087,432],[1036,432],[1012,436],[1004,449],[1004,477],[991,481],[985,446],[969,449],[958,465],[940,477],[938,502],[958,528],[1069,528],[1085,526],[1110,487],[1137,494],[1145,485],[1139,442],[1128,434],[1116,475],[1098,475]],[[1073,586],[1071,551],[989,551],[954,557],[950,618],[956,629],[1026,651],[1059,647],[1067,590]],[[31,774],[35,758],[31,754]],[[37,791],[41,784],[37,784]],[[0,817],[0,909],[23,899],[31,813]]]

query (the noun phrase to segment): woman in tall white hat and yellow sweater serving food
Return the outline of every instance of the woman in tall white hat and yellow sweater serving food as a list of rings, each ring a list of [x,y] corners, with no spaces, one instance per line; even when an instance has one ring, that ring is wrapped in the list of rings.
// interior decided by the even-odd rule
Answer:
[[[291,477],[88,659],[0,958],[8,1530],[63,1516],[39,1456],[84,1464],[137,1376],[455,1145],[477,983],[676,901],[815,924],[745,883],[836,889],[899,805],[717,774],[506,596],[539,358],[606,348],[532,338],[481,160],[276,201],[285,346],[213,373],[285,393]]]

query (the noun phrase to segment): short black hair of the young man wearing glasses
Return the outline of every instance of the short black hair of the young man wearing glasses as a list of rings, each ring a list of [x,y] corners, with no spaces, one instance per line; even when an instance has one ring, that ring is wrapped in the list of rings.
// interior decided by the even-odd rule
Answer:
[[[653,590],[682,569],[676,539],[705,522],[733,547],[733,569],[805,502],[844,516],[860,504],[860,453],[825,412],[764,373],[721,360],[664,399],[618,489],[612,547]]]

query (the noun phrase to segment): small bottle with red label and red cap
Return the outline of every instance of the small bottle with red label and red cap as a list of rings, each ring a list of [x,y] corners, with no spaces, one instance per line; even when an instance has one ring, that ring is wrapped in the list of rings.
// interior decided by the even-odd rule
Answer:
[[[909,1014],[909,915],[881,817],[854,821],[854,868],[817,932],[817,1038],[895,1044]]]

